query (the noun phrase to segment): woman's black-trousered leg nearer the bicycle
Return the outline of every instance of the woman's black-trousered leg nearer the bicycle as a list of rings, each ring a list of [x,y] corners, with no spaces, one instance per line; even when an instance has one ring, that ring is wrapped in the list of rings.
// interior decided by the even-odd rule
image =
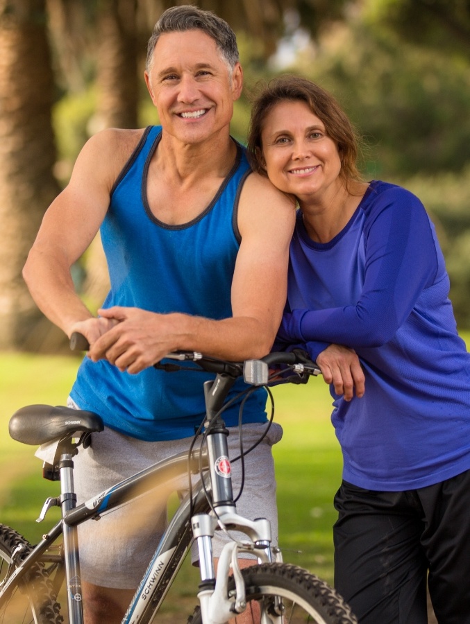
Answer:
[[[335,496],[335,588],[360,624],[426,624],[419,501],[342,483]]]

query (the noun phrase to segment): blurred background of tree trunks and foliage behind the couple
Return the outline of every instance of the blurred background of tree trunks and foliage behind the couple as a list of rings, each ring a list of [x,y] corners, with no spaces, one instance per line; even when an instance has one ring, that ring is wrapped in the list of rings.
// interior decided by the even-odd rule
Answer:
[[[158,123],[143,80],[146,41],[162,10],[182,3],[0,0],[0,348],[64,347],[23,283],[26,254],[90,135]],[[468,329],[469,0],[197,4],[237,33],[246,88],[233,135],[244,140],[260,80],[289,72],[326,87],[364,139],[365,175],[403,184],[426,205]],[[96,308],[107,288],[99,240],[74,270]]]

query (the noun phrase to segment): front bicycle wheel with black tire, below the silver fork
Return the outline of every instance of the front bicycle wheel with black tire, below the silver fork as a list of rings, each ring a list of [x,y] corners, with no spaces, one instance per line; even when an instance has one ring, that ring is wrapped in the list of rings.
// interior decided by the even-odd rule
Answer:
[[[291,564],[261,564],[242,570],[246,591],[246,610],[254,612],[258,603],[267,614],[267,621],[289,624],[358,624],[349,605],[326,582],[314,574]],[[230,577],[228,591],[235,591]],[[283,598],[283,618],[274,612],[274,599]],[[269,618],[271,616],[272,620]],[[235,617],[235,622],[237,618]],[[253,621],[259,621],[259,615]],[[188,624],[202,624],[200,607],[188,619]]]

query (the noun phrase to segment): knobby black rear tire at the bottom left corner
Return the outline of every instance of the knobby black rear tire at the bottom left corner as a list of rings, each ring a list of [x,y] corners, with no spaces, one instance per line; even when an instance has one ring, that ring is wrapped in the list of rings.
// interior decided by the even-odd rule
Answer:
[[[3,580],[4,571],[11,560],[12,552],[20,544],[24,545],[24,551],[21,553],[21,559],[24,559],[33,548],[31,544],[14,529],[0,525],[1,580]],[[26,581],[20,582],[19,585],[13,585],[12,591],[7,592],[8,595],[0,603],[0,624],[17,624],[16,621],[11,619],[13,616],[8,614],[10,598],[15,591],[24,594],[25,606],[27,601],[32,605],[31,622],[37,624],[63,623],[64,618],[60,615],[60,605],[57,602],[51,580],[49,580],[43,564],[38,563],[31,566],[31,571],[28,573]]]

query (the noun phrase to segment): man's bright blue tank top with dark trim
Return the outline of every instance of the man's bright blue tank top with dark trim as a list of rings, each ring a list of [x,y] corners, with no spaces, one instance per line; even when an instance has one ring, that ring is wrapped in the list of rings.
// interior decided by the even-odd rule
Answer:
[[[111,191],[101,240],[108,261],[110,293],[103,307],[129,306],[158,313],[183,312],[215,320],[232,316],[230,289],[240,234],[237,206],[250,168],[237,144],[235,164],[210,205],[184,225],[160,222],[149,208],[149,163],[162,135],[146,128]],[[164,372],[137,375],[107,361],[84,358],[71,397],[98,413],[106,426],[140,440],[176,440],[194,435],[204,414],[203,382],[213,374]],[[235,383],[228,399],[246,388]],[[235,426],[242,397],[224,412]],[[243,422],[265,422],[265,390],[246,401]]]

